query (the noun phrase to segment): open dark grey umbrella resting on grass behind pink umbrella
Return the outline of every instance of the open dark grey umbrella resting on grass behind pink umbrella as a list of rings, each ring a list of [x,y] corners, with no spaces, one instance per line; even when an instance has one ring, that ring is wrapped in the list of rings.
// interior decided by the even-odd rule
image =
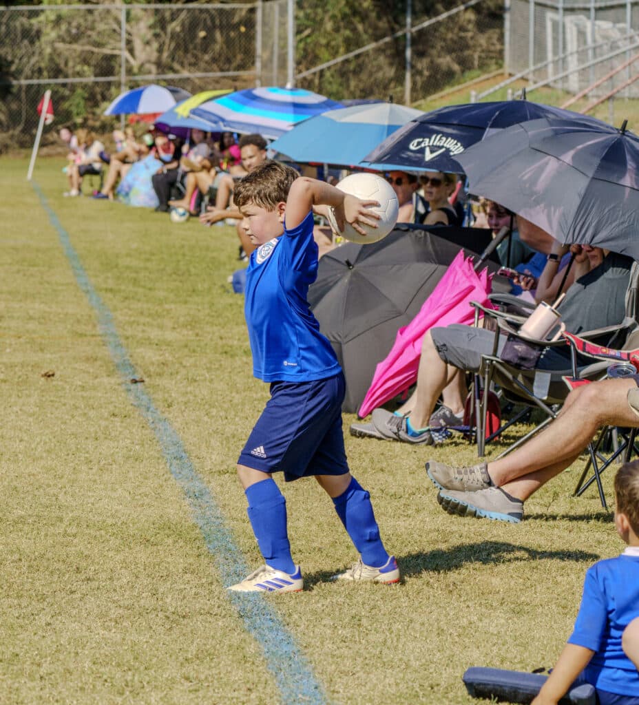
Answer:
[[[358,409],[398,329],[418,314],[460,250],[433,231],[453,237],[461,230],[475,233],[482,249],[489,231],[400,226],[378,243],[346,243],[319,260],[308,300],[346,376],[344,411]]]

